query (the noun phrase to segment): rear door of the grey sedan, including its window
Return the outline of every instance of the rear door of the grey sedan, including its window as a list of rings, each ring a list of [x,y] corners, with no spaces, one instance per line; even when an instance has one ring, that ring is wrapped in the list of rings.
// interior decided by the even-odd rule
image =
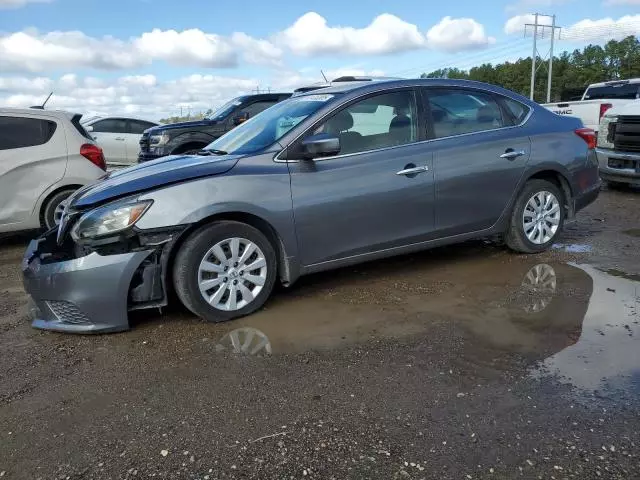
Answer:
[[[435,147],[435,228],[445,237],[491,227],[522,177],[529,107],[491,92],[426,88]]]

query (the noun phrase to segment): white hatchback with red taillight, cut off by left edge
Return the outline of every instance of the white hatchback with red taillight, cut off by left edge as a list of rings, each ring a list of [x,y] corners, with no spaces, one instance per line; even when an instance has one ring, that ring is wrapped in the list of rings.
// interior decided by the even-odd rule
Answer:
[[[0,108],[0,232],[55,227],[64,200],[105,175],[79,114]]]

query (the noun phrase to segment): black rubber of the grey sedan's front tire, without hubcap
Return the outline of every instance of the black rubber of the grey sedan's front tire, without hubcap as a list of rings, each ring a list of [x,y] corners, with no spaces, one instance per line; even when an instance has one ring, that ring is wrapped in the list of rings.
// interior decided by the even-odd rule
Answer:
[[[225,312],[212,307],[198,288],[200,261],[216,243],[231,237],[242,237],[255,243],[267,261],[267,279],[258,296],[248,305],[234,312]],[[221,221],[204,225],[182,244],[173,264],[173,285],[183,305],[200,318],[209,322],[225,322],[249,315],[260,307],[271,295],[276,282],[276,253],[271,242],[258,229],[241,222]]]

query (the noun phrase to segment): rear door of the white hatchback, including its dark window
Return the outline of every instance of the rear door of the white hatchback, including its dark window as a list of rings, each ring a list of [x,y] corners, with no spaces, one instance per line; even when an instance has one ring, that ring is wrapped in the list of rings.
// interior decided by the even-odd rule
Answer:
[[[64,127],[56,118],[0,114],[0,225],[27,222],[66,166]]]

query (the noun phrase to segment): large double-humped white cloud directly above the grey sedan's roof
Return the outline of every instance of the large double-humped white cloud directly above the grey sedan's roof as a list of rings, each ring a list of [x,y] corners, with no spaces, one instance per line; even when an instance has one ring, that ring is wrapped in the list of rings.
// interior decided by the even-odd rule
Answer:
[[[276,34],[276,42],[298,55],[343,53],[376,55],[421,48],[424,37],[416,25],[384,13],[364,28],[330,27],[321,15],[309,12]]]

